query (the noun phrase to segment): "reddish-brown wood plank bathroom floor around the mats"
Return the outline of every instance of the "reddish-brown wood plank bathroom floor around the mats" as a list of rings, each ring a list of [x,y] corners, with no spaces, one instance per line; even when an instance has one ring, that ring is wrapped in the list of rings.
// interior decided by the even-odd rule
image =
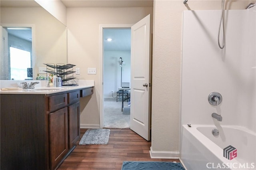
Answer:
[[[80,130],[80,139],[87,129]],[[64,160],[58,170],[121,170],[123,161],[166,161],[151,159],[151,142],[126,129],[110,129],[107,145],[79,145]]]

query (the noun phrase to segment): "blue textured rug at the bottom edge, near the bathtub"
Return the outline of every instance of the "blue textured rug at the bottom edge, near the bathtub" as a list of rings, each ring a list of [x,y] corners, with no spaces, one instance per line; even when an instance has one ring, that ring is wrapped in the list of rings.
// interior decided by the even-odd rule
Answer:
[[[181,163],[124,161],[122,170],[185,170]]]

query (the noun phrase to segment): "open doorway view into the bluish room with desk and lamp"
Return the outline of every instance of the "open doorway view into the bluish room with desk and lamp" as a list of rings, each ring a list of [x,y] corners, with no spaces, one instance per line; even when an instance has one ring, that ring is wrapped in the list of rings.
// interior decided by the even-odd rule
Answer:
[[[131,29],[103,28],[102,32],[103,128],[130,128]]]

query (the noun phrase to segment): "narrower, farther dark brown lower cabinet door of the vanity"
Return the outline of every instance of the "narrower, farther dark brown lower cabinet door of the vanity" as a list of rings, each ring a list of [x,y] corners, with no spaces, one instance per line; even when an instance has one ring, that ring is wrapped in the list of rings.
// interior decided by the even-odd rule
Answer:
[[[80,137],[80,103],[68,107],[68,148],[76,145]]]

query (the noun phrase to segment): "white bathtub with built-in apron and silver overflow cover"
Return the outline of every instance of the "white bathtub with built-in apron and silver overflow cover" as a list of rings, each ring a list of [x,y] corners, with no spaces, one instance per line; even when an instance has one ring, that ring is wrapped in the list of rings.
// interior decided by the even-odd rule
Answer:
[[[229,145],[237,149],[232,160],[223,156]],[[180,160],[187,170],[255,170],[256,133],[239,126],[183,125]]]

